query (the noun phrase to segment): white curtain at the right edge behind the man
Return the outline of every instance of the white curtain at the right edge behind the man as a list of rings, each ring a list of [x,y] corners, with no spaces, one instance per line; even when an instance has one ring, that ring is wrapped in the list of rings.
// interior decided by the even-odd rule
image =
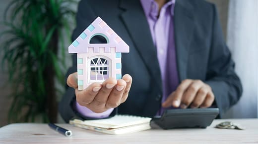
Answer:
[[[258,0],[230,0],[227,42],[244,91],[223,118],[258,117]]]

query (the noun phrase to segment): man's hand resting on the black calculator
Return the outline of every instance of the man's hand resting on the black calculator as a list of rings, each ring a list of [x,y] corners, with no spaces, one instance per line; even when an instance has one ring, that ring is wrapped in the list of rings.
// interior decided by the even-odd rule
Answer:
[[[170,106],[187,108],[207,108],[212,105],[214,94],[211,87],[201,80],[185,79],[178,88],[172,92],[162,107]]]

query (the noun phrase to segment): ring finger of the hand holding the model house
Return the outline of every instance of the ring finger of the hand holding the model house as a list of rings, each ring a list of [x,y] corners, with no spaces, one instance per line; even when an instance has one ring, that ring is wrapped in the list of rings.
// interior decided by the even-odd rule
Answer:
[[[125,87],[127,86],[127,83],[123,79],[119,79],[117,85],[113,90],[111,91],[107,103],[106,108],[116,108],[121,103],[121,98],[123,96]]]

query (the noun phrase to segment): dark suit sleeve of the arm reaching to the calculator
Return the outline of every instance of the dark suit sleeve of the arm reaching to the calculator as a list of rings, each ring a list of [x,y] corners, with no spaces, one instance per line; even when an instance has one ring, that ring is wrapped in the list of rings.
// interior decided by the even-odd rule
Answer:
[[[223,114],[236,104],[242,95],[242,85],[234,67],[231,53],[224,41],[218,13],[213,5],[213,30],[205,83],[215,95],[215,105]],[[221,116],[221,115],[220,115]]]

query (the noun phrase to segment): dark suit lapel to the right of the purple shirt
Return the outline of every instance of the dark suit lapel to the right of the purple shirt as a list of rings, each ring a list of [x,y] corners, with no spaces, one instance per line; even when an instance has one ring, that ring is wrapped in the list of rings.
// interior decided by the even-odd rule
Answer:
[[[182,81],[187,78],[188,54],[194,32],[194,9],[187,0],[176,0],[174,26],[177,68]]]

